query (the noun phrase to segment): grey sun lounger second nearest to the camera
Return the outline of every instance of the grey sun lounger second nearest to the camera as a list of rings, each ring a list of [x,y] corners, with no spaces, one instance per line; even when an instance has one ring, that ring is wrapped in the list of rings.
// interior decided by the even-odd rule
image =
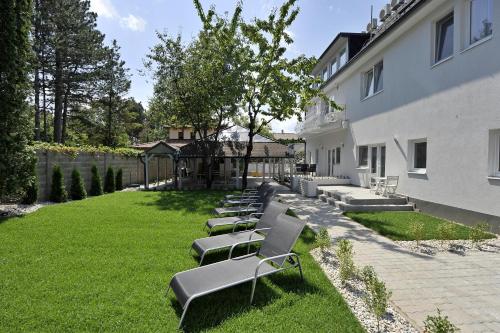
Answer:
[[[270,229],[276,224],[280,214],[286,213],[288,206],[273,201],[267,206],[262,217],[257,220],[254,230],[232,232],[229,234],[217,235],[213,237],[199,238],[193,242],[191,250],[195,250],[201,257],[200,266],[203,263],[205,255],[210,251],[230,248],[234,244],[250,244],[262,241]],[[246,221],[244,221],[246,223]],[[238,222],[235,223],[235,227]]]

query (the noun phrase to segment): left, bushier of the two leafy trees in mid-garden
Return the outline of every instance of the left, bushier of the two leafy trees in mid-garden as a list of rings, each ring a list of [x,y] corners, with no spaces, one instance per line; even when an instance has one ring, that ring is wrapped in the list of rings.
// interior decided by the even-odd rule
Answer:
[[[238,34],[241,4],[231,17],[205,13],[194,0],[203,28],[185,45],[180,36],[158,34],[146,66],[154,72],[154,106],[169,124],[189,125],[197,134],[196,150],[203,156],[207,187],[211,186],[220,134],[230,126],[243,93],[242,39]]]

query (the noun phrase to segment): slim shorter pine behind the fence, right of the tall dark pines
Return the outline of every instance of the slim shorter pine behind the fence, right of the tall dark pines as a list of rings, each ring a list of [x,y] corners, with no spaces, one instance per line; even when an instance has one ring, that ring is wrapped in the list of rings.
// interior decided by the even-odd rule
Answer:
[[[123,96],[130,89],[130,79],[125,61],[120,59],[120,47],[116,40],[106,48],[106,60],[101,68],[101,81],[98,87],[98,106],[104,111],[104,144],[117,146],[119,143]]]

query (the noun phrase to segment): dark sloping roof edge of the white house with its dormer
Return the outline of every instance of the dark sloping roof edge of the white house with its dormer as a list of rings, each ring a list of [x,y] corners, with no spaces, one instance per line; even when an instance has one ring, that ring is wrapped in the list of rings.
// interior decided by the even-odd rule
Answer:
[[[399,10],[398,14],[395,15],[395,18],[390,20],[389,22],[383,24],[376,32],[373,34],[372,38],[360,49],[359,52],[357,52],[353,57],[345,64],[343,67],[341,67],[335,74],[330,76],[328,80],[323,82],[323,86],[327,85],[330,83],[332,80],[334,80],[336,77],[338,77],[341,73],[343,73],[347,68],[351,67],[363,54],[371,50],[375,45],[377,45],[381,40],[383,40],[387,35],[389,35],[394,29],[396,29],[399,25],[401,25],[403,22],[405,22],[411,15],[413,15],[419,8],[422,7],[425,3],[429,2],[431,0],[409,0],[406,2]],[[330,44],[330,46],[326,49],[325,52],[321,55],[323,57],[326,55],[328,49],[335,44],[336,40],[340,38],[339,36],[343,34],[349,34],[342,32],[340,33]],[[341,36],[342,37],[342,36]],[[320,57],[320,59],[321,59]]]

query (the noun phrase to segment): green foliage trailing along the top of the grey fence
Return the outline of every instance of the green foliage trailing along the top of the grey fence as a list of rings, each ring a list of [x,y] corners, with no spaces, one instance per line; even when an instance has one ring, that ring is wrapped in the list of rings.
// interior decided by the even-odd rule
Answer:
[[[76,158],[80,153],[87,154],[116,154],[122,155],[126,157],[137,157],[141,153],[140,150],[131,149],[131,148],[111,148],[105,146],[65,146],[57,143],[48,143],[48,142],[35,142],[33,144],[33,148],[35,150],[45,150],[54,153],[60,153],[64,155],[71,156],[72,158]]]

